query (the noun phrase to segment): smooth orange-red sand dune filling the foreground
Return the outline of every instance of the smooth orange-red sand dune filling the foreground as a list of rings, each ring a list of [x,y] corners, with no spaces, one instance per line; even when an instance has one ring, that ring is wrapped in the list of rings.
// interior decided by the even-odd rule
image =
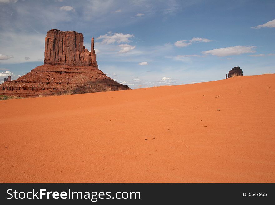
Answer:
[[[275,182],[275,74],[0,106],[0,182]]]

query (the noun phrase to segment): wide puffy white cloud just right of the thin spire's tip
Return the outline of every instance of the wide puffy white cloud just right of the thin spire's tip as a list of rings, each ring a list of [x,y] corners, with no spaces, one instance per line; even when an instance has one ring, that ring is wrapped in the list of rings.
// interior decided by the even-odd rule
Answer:
[[[129,43],[129,38],[133,38],[135,35],[133,34],[123,34],[123,33],[112,33],[108,32],[108,34],[101,35],[96,40],[102,39],[102,44],[111,44],[111,43]]]

